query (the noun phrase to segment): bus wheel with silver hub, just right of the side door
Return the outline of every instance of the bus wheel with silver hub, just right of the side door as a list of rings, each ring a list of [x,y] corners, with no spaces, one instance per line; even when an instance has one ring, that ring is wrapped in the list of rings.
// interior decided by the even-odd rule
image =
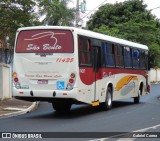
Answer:
[[[106,100],[100,104],[103,111],[110,110],[112,108],[112,90],[109,87],[106,93]]]

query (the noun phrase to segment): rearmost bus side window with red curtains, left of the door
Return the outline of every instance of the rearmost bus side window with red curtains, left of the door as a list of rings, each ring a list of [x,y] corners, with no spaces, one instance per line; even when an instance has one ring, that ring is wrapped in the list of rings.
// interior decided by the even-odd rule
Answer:
[[[91,42],[85,37],[78,38],[79,64],[91,66]]]

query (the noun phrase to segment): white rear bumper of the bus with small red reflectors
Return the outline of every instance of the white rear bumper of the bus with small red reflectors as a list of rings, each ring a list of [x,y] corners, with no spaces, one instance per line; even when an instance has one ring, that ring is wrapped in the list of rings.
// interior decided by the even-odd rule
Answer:
[[[77,88],[70,91],[62,90],[30,90],[13,87],[13,96],[17,99],[28,101],[50,101],[53,99],[66,98],[77,100]]]

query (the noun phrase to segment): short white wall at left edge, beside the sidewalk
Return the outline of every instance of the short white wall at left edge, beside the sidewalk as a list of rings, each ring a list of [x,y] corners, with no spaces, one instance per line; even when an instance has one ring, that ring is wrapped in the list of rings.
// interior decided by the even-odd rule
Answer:
[[[0,100],[11,98],[10,66],[0,64]]]

